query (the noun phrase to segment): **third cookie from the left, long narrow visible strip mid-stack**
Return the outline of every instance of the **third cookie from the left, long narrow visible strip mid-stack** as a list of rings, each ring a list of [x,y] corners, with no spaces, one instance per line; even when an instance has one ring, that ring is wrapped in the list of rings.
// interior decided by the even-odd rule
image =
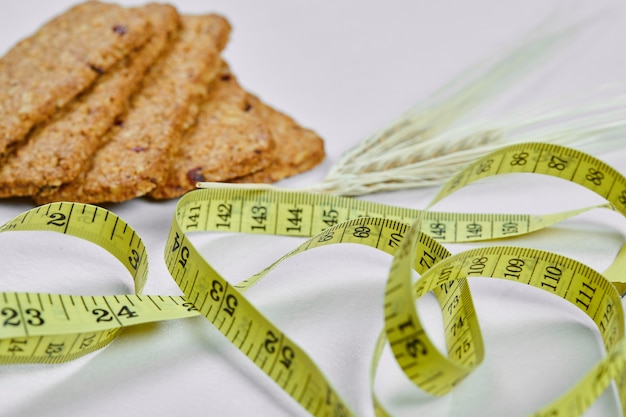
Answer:
[[[172,145],[190,127],[219,70],[230,25],[221,16],[183,16],[170,48],[144,78],[128,110],[93,155],[88,171],[36,201],[119,202],[152,191]]]

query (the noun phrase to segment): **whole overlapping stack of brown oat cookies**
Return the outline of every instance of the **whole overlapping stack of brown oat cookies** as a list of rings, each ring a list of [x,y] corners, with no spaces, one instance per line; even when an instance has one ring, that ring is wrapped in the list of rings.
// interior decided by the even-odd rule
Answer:
[[[79,4],[0,59],[0,197],[178,197],[201,181],[274,182],[322,139],[238,83],[230,24],[166,4]]]

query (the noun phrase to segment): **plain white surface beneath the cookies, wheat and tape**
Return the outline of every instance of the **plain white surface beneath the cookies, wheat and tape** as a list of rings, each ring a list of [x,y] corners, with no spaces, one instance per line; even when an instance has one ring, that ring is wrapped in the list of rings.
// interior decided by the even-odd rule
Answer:
[[[125,1],[125,4],[140,4]],[[71,1],[3,1],[0,52]],[[532,104],[626,74],[622,1],[391,0],[292,2],[180,0],[182,12],[217,12],[233,25],[225,56],[241,84],[324,137],[328,157],[282,182],[305,187],[324,177],[342,152],[398,116],[468,65],[514,44],[553,14],[561,22],[597,17],[570,48],[545,63],[496,110]],[[569,20],[568,20],[569,19]],[[626,149],[598,155],[626,173]],[[600,202],[580,187],[532,176],[477,184],[438,209],[548,213]],[[363,198],[421,208],[436,188]],[[0,201],[0,222],[31,208]],[[175,201],[138,199],[108,206],[145,240],[148,294],[178,294],[162,261]],[[602,270],[624,240],[625,220],[594,211],[532,236],[507,241],[574,257]],[[207,259],[238,281],[301,242],[243,235],[198,236]],[[250,299],[318,361],[347,402],[371,416],[367,372],[382,325],[390,258],[363,247],[300,255],[250,292]],[[468,245],[451,245],[453,251]],[[0,290],[74,294],[131,291],[125,271],[99,248],[45,233],[0,235]],[[452,394],[430,398],[409,386],[385,357],[377,387],[398,416],[524,416],[565,392],[602,355],[580,312],[539,291],[473,280],[486,360]],[[420,303],[432,318],[429,299]],[[612,392],[589,416],[618,416]],[[139,326],[107,348],[62,365],[0,367],[2,416],[304,416],[294,401],[203,318]]]

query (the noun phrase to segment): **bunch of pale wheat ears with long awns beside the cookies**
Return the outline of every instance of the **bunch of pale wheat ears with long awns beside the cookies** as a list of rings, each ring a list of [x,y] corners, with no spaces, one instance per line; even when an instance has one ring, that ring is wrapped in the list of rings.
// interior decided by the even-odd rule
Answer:
[[[464,72],[343,154],[313,192],[363,195],[440,185],[498,147],[542,141],[594,152],[626,141],[626,95],[605,86],[497,120],[468,121],[481,105],[568,41],[580,25],[531,37],[502,58]],[[537,30],[532,33],[538,32]],[[610,94],[610,97],[596,97]],[[575,106],[571,103],[582,102]]]

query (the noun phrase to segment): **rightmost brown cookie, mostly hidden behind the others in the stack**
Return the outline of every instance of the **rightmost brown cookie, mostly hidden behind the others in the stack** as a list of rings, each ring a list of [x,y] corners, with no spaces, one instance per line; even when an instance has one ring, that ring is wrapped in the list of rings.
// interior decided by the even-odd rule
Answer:
[[[267,168],[231,182],[272,183],[308,171],[324,160],[324,142],[317,133],[301,126],[290,116],[257,101],[274,138],[272,162]]]

